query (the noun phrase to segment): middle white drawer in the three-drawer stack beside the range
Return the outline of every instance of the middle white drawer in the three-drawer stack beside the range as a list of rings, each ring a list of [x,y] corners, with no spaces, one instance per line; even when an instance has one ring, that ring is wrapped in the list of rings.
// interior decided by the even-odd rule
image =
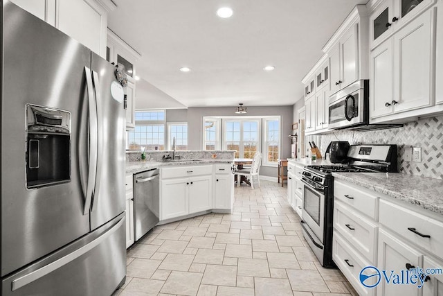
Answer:
[[[363,218],[341,202],[334,202],[334,233],[350,241],[363,256],[375,263],[377,261],[377,225]]]

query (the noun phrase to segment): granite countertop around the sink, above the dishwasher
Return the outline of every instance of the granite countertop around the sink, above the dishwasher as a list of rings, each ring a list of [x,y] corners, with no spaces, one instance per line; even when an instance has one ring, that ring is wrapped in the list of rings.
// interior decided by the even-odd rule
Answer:
[[[181,162],[155,162],[155,161],[140,161],[140,162],[126,162],[126,174],[135,174],[152,168],[160,168],[161,166],[191,166],[195,164],[230,164],[234,159],[189,159]]]

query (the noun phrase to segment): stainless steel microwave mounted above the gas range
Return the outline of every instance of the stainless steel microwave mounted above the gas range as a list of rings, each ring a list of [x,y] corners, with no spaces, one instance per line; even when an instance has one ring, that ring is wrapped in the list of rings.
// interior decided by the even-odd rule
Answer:
[[[334,130],[381,130],[401,124],[369,123],[369,80],[357,80],[329,97],[329,128]]]

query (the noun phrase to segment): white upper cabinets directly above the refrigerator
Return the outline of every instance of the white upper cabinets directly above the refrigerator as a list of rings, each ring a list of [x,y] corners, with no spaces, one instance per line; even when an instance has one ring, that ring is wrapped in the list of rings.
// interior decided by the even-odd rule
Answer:
[[[107,14],[117,6],[111,0],[12,0],[24,10],[106,57]]]

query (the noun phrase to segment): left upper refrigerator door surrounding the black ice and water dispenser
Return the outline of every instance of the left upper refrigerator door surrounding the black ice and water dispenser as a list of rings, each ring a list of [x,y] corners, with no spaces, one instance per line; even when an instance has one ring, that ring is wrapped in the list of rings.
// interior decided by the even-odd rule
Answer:
[[[89,171],[84,67],[90,63],[89,49],[10,1],[3,1],[2,277],[89,232],[89,211],[84,214]],[[28,103],[71,113],[66,149],[70,168],[64,184],[26,189]]]

